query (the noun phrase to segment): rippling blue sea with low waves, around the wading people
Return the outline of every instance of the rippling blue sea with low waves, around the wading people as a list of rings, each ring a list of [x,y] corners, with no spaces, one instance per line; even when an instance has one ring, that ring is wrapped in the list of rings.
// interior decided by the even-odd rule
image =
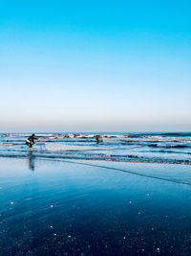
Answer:
[[[36,133],[33,156],[191,164],[191,132]],[[28,157],[30,134],[1,133],[0,156]]]

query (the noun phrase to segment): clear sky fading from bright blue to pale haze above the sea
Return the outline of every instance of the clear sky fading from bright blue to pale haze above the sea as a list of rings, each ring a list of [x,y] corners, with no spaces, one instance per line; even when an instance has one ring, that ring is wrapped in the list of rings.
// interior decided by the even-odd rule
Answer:
[[[1,1],[0,131],[191,130],[191,2]]]

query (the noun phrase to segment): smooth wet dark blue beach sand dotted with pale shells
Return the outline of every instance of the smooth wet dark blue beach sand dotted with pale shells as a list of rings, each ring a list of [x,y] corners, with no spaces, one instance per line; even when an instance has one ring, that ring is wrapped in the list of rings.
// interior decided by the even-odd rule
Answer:
[[[190,255],[191,167],[0,158],[0,255]]]

